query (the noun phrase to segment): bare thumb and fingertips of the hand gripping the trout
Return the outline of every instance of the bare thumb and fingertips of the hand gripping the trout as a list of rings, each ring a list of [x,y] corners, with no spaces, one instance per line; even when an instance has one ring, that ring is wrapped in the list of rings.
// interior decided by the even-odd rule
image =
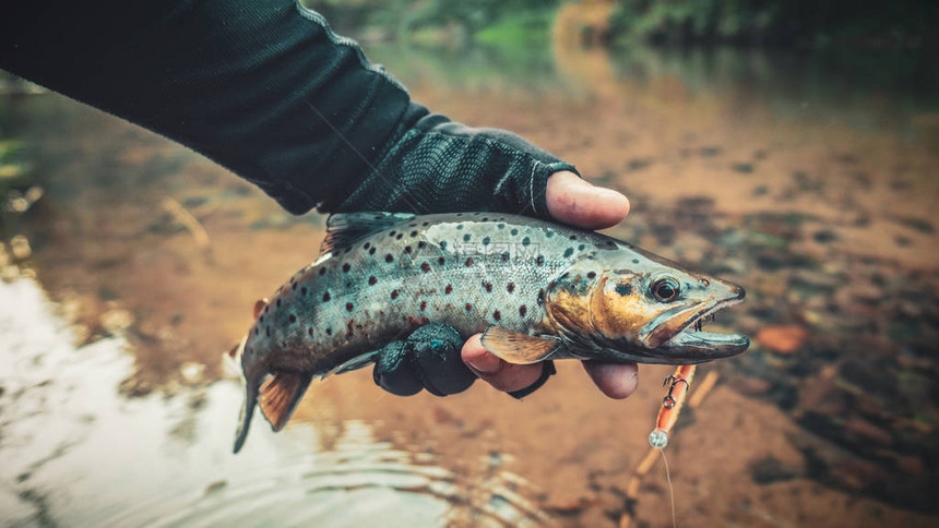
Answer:
[[[611,190],[594,187],[566,170],[548,178],[548,211],[558,220],[586,229],[611,227],[629,214],[629,200]],[[463,345],[461,357],[473,372],[499,391],[512,393],[530,387],[542,379],[544,363],[511,364],[489,353],[477,334]],[[610,398],[626,398],[639,383],[634,363],[584,361],[593,382]]]

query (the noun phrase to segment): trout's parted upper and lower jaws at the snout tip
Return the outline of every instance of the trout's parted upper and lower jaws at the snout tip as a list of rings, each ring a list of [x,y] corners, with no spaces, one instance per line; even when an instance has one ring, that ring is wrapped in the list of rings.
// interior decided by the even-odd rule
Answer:
[[[744,352],[750,346],[750,339],[747,336],[706,332],[702,328],[709,319],[713,320],[716,312],[742,302],[745,295],[744,289],[737,287],[730,297],[711,301],[703,308],[696,307],[691,314],[688,314],[689,311],[684,311],[674,315],[670,320],[681,321],[680,325],[671,329],[671,325],[667,322],[663,324],[659,331],[671,335],[661,341],[656,348],[665,352],[669,361],[684,364],[702,363]],[[688,316],[682,320],[682,315],[686,314]],[[662,335],[659,332],[654,334]]]

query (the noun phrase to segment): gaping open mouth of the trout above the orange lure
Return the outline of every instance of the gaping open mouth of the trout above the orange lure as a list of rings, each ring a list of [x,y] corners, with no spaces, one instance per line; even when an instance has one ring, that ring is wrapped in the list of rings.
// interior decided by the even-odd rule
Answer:
[[[742,290],[741,290],[742,291]],[[678,331],[662,344],[662,348],[668,349],[675,356],[686,353],[701,353],[701,361],[710,361],[716,358],[725,358],[742,352],[750,346],[750,339],[739,334],[720,334],[706,332],[704,325],[714,321],[714,314],[721,310],[739,304],[742,296],[722,299],[712,305],[700,310],[697,314],[685,321]],[[691,362],[698,359],[688,357]]]

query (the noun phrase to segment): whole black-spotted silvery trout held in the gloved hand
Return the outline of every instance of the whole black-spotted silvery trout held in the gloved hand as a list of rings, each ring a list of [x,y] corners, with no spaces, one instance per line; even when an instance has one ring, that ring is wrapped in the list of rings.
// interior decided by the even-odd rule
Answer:
[[[500,213],[338,214],[322,254],[254,307],[233,350],[247,385],[235,453],[255,406],[274,431],[314,376],[444,323],[509,363],[578,358],[696,364],[749,339],[701,329],[744,288],[605,235]]]

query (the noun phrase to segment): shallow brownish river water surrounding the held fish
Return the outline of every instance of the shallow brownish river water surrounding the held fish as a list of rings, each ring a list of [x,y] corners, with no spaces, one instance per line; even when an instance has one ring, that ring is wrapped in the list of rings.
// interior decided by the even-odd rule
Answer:
[[[679,525],[935,525],[928,58],[367,51],[435,111],[626,192],[614,235],[747,287],[714,324],[752,349],[701,369],[716,388],[666,451]],[[24,213],[8,195],[2,217],[4,524],[670,525],[661,465],[626,496],[658,367],[627,401],[573,363],[524,401],[482,384],[397,398],[345,374],[230,455],[241,389],[224,351],[253,301],[316,257],[322,217],[122,121],[4,89],[0,141],[22,143],[4,163],[43,189]]]

